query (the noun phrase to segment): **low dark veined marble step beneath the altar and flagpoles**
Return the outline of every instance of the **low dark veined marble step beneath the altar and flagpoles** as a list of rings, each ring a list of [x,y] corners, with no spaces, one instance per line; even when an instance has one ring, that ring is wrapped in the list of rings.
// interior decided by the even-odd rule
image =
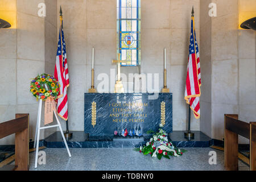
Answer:
[[[210,147],[213,139],[201,131],[192,131],[195,139],[184,138],[184,131],[173,131],[168,135],[177,147]],[[146,144],[151,135],[143,137],[89,137],[84,131],[72,131],[73,138],[67,141],[70,148],[133,148]],[[43,141],[47,148],[64,148],[65,144],[59,131],[56,131]]]

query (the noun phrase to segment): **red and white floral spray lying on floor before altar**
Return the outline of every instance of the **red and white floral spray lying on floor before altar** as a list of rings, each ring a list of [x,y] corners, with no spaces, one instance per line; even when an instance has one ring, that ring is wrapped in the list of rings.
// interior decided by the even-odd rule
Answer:
[[[163,125],[160,124],[160,129],[158,133],[155,133],[146,146],[141,146],[139,148],[134,148],[135,151],[142,152],[142,154],[150,154],[151,157],[158,158],[162,157],[170,159],[170,156],[180,156],[185,152],[185,150],[180,150],[175,147],[172,142],[168,141],[168,134],[162,129]]]

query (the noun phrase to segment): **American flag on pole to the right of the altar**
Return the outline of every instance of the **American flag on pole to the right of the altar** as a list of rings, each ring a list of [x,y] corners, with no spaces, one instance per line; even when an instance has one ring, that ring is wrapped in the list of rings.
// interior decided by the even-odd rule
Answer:
[[[187,101],[187,104],[190,105],[190,108],[193,110],[195,118],[200,118],[200,86],[201,73],[199,47],[196,42],[195,19],[194,16],[192,16],[185,100]]]

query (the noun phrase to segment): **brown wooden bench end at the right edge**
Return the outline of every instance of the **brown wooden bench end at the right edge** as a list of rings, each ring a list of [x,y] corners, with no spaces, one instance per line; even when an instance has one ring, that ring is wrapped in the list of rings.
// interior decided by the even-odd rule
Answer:
[[[250,140],[250,170],[256,171],[256,122],[238,120],[237,114],[225,114],[224,166],[238,170],[238,135]]]

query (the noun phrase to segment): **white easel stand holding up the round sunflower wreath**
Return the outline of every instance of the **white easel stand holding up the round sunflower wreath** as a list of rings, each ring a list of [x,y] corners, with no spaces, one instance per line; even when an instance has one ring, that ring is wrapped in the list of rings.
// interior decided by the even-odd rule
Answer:
[[[71,154],[70,154],[70,151],[69,151],[69,148],[68,148],[68,144],[67,144],[67,141],[64,137],[64,134],[63,134],[63,131],[62,131],[62,128],[61,128],[61,125],[60,125],[60,121],[57,117],[57,114],[55,112],[55,110],[53,110],[54,112],[54,115],[55,115],[55,118],[57,120],[57,125],[51,125],[51,126],[44,126],[44,127],[40,127],[40,123],[41,123],[41,114],[42,114],[42,100],[39,101],[39,107],[38,107],[38,121],[36,122],[36,131],[35,131],[35,142],[34,142],[34,148],[36,146],[36,156],[35,156],[35,168],[38,167],[38,150],[39,150],[39,137],[40,137],[40,130],[42,129],[49,129],[51,127],[59,127],[60,128],[60,133],[62,135],[62,138],[64,140],[64,143],[65,143],[65,146],[67,148],[67,151],[68,151],[68,156],[71,157]]]

